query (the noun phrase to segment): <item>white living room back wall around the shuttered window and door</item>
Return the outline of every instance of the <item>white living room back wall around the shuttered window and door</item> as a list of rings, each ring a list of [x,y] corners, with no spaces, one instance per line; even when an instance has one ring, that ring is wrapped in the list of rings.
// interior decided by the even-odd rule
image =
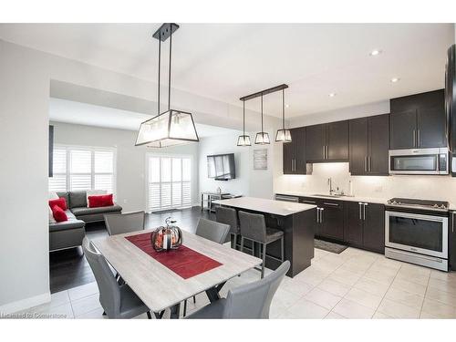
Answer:
[[[51,122],[56,144],[111,147],[117,150],[116,201],[125,212],[145,210],[146,154],[179,154],[192,158],[192,203],[198,203],[198,144],[190,143],[166,149],[135,147],[136,132],[93,126]]]

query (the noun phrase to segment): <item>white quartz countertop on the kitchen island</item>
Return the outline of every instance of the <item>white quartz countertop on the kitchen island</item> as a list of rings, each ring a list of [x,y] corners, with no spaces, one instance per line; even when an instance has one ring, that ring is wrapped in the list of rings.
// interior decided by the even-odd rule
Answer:
[[[296,212],[305,212],[316,208],[316,205],[295,202],[283,202],[266,200],[256,197],[239,197],[228,200],[212,201],[215,204],[227,205],[239,209],[253,210],[255,212],[267,212],[275,215],[287,216]]]

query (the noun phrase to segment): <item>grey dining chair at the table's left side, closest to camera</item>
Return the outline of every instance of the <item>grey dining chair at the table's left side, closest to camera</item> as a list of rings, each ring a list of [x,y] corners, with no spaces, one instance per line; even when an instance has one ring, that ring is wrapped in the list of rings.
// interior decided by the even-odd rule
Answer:
[[[87,237],[82,241],[82,249],[97,280],[99,303],[109,318],[133,318],[147,313],[147,307],[129,285],[119,285],[112,274],[105,257],[99,254]]]

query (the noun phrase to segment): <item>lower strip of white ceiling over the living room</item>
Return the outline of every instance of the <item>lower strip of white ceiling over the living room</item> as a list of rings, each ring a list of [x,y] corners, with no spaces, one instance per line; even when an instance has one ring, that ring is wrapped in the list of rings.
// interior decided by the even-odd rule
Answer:
[[[119,130],[138,130],[140,123],[150,115],[128,110],[90,105],[60,98],[50,98],[49,119],[51,121],[74,123]],[[240,133],[222,127],[195,123],[200,138]]]

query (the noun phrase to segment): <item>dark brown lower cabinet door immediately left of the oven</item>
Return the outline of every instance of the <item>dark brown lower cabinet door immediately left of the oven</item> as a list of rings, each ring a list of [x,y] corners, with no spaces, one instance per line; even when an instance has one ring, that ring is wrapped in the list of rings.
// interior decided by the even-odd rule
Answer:
[[[378,253],[385,253],[385,206],[364,203],[363,247]]]

